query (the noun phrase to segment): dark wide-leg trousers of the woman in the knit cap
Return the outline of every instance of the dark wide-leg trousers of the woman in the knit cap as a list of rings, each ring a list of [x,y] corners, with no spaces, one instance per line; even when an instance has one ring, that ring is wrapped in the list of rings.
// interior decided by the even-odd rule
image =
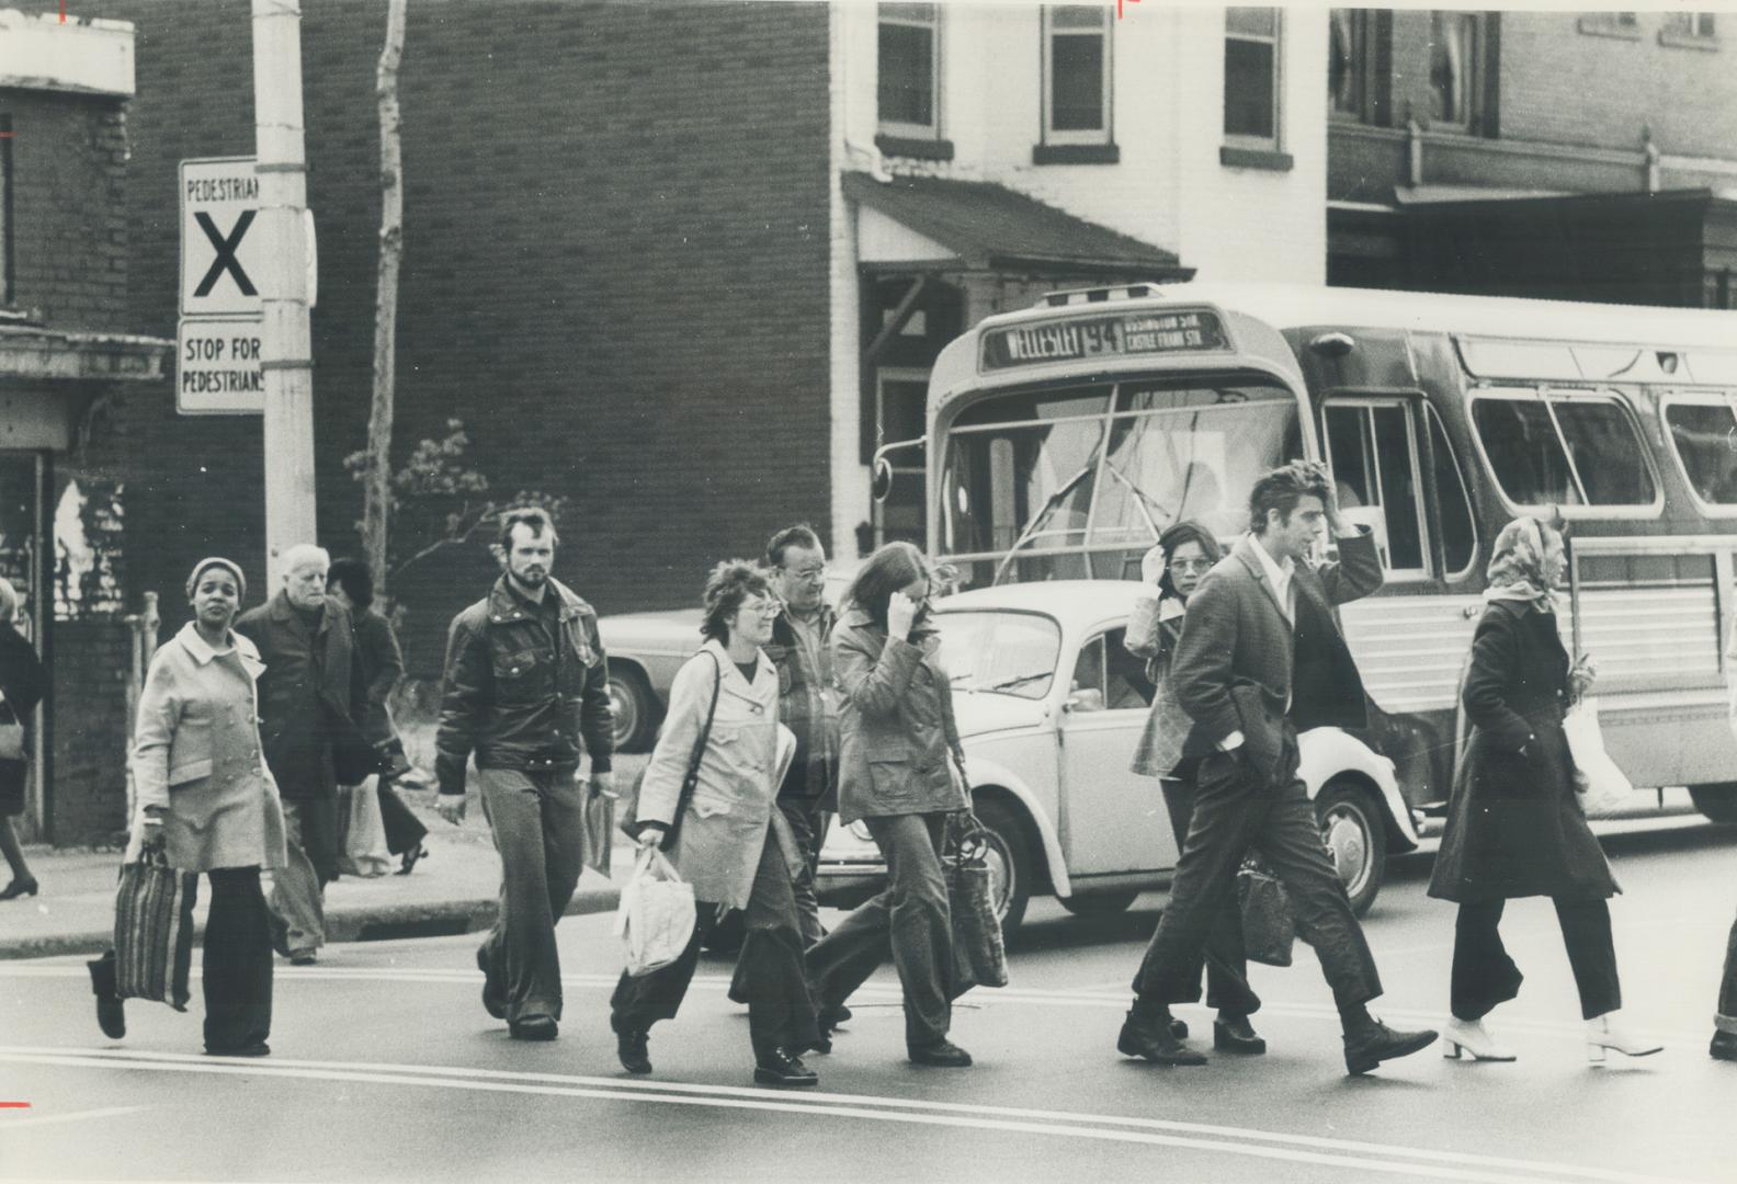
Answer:
[[[205,918],[205,1047],[234,1052],[271,1035],[271,913],[259,868],[212,868]]]

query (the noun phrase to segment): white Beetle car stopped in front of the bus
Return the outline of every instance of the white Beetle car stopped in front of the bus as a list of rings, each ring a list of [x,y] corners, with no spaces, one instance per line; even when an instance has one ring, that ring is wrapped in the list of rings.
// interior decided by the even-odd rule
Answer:
[[[1119,911],[1176,868],[1159,781],[1129,771],[1153,694],[1145,661],[1122,644],[1136,590],[1126,580],[1054,580],[936,602],[1009,934],[1035,892],[1073,913]],[[1322,837],[1364,913],[1386,854],[1417,845],[1393,764],[1337,727],[1304,733],[1299,748]],[[867,826],[834,826],[820,854],[822,901],[851,906],[882,880]]]

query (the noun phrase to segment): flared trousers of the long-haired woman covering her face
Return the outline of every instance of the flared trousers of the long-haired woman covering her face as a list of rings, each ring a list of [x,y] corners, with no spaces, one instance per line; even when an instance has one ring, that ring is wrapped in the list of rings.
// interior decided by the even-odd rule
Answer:
[[[886,891],[808,951],[808,974],[825,1012],[842,1005],[891,953],[905,990],[905,1043],[936,1045],[952,1026],[954,998],[952,913],[941,872],[947,814],[863,821],[886,859]]]

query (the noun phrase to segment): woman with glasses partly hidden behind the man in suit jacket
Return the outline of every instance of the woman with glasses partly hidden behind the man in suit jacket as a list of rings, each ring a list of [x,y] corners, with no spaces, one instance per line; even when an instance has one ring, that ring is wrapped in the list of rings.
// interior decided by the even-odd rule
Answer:
[[[1157,687],[1152,696],[1152,715],[1146,719],[1146,731],[1139,736],[1134,750],[1133,771],[1141,776],[1159,778],[1164,790],[1164,806],[1171,814],[1171,830],[1176,832],[1176,849],[1181,851],[1188,840],[1188,823],[1193,819],[1195,774],[1200,769],[1200,757],[1205,753],[1188,752],[1192,720],[1176,701],[1171,687],[1171,654],[1183,634],[1183,616],[1188,611],[1188,597],[1200,587],[1200,580],[1212,569],[1225,550],[1212,538],[1212,531],[1195,521],[1172,523],[1159,535],[1157,545],[1145,554],[1139,562],[1141,589],[1134,597],[1134,613],[1127,622],[1127,651],[1146,660],[1146,677]],[[1145,967],[1141,967],[1141,976]],[[1139,990],[1139,977],[1134,977],[1134,990]],[[1259,997],[1249,986],[1247,958],[1242,953],[1242,915],[1237,901],[1226,896],[1212,922],[1212,931],[1205,944],[1205,1002],[1218,1009],[1212,1021],[1212,1047],[1223,1052],[1266,1052],[1266,1042],[1256,1035],[1249,1024],[1249,1016],[1261,1005]],[[1181,1019],[1164,1016],[1171,1035],[1181,1040],[1188,1035],[1188,1024]]]

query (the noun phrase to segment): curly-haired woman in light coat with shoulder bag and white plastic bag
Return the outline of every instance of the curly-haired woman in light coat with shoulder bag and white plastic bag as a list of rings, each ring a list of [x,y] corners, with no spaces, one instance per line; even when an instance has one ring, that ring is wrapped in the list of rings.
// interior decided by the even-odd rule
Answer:
[[[815,1003],[802,969],[796,875],[802,849],[775,799],[780,760],[796,738],[778,724],[778,670],[761,651],[783,609],[766,575],[730,559],[705,583],[705,644],[676,672],[664,729],[639,786],[639,845],[664,842],[681,811],[670,861],[698,904],[698,925],[681,958],[643,977],[622,974],[610,1000],[610,1026],[629,1073],[650,1073],[648,1036],[681,1007],[700,944],[723,908],[743,910],[736,981],[749,995],[754,1080],[815,1085],[802,1052],[820,1043]],[[716,701],[716,710],[714,710]],[[693,799],[679,806],[695,747],[705,733]]]

